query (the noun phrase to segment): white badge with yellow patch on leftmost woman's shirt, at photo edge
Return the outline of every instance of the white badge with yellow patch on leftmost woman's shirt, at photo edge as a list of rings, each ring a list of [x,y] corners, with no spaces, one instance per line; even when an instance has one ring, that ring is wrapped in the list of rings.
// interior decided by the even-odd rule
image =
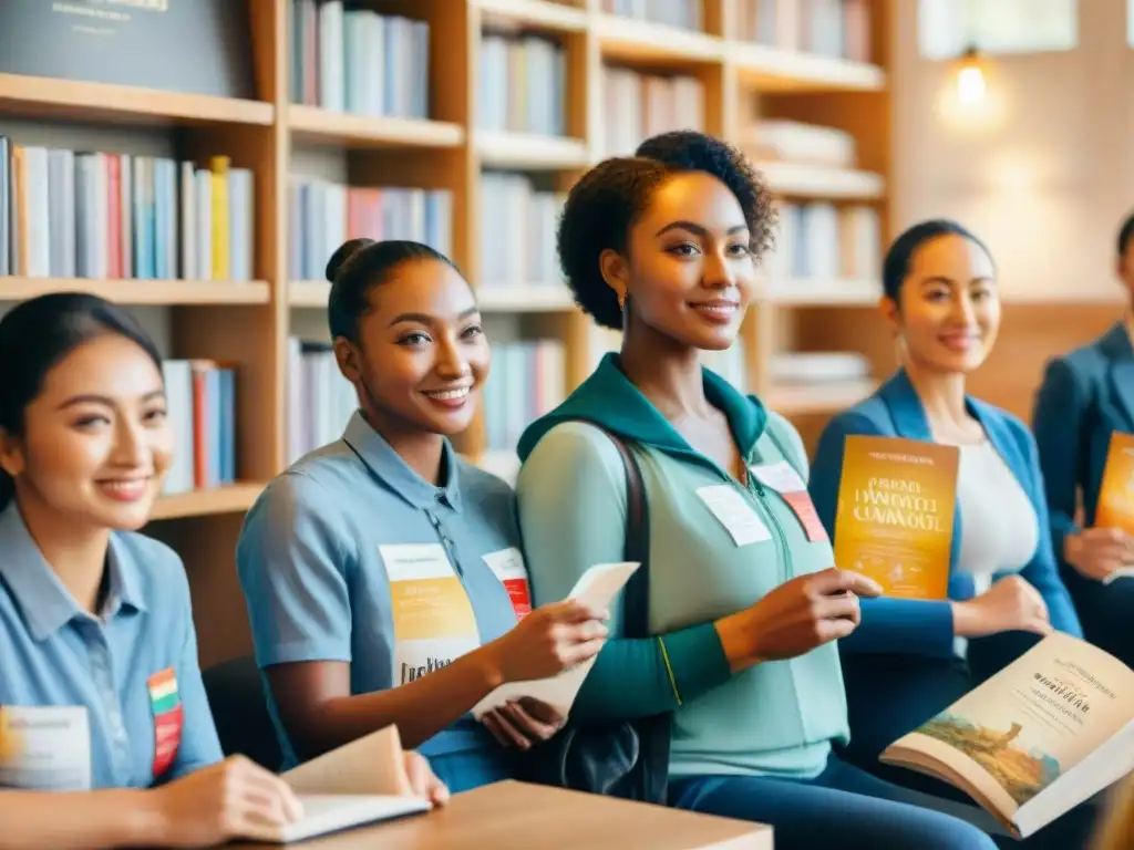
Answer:
[[[0,788],[90,791],[86,706],[0,707]]]

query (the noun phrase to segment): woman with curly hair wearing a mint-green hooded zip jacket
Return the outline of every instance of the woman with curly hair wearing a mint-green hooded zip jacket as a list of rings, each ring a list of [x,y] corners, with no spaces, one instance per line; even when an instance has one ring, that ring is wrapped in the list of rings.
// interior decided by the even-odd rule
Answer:
[[[670,714],[667,802],[770,823],[781,850],[995,847],[832,754],[848,733],[833,641],[880,588],[830,567],[795,430],[700,363],[735,341],[773,227],[744,158],[697,133],[600,163],[567,199],[567,280],[624,338],[521,440],[534,597],[623,559],[627,488],[608,434],[636,458],[650,512],[651,637],[626,637],[612,606],[575,719]]]

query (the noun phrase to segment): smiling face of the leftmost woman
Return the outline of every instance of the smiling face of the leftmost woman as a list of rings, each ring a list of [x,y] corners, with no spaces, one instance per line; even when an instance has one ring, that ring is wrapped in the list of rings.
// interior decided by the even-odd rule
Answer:
[[[174,451],[161,372],[132,340],[95,337],[46,374],[23,436],[5,434],[2,447],[23,504],[73,525],[139,528]]]

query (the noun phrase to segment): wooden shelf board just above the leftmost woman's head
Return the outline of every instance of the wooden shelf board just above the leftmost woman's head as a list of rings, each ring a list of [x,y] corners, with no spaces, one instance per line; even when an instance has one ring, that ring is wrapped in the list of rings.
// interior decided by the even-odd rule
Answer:
[[[0,301],[23,301],[46,292],[90,292],[108,301],[135,305],[268,304],[265,281],[98,280],[93,278],[0,277]]]

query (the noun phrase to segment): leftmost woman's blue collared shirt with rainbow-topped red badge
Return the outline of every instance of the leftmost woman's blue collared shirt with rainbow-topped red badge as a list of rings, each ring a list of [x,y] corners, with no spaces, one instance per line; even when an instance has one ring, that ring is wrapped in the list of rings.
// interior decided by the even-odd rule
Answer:
[[[107,569],[107,601],[92,617],[16,503],[0,513],[0,706],[26,716],[49,706],[85,713],[91,788],[149,788],[219,762],[180,559],[155,539],[115,532]]]

